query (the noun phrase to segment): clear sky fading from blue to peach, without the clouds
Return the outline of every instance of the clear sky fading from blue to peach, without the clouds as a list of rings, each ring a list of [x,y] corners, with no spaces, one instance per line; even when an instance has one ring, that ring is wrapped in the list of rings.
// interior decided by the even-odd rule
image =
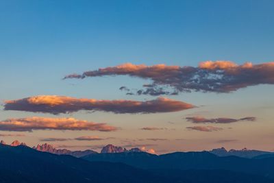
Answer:
[[[197,66],[205,60],[231,60],[237,64],[247,61],[254,64],[271,62],[274,56],[273,5],[274,2],[270,0],[1,1],[0,99],[3,101],[34,95],[68,95],[92,99],[154,99],[155,97],[149,96],[126,96],[119,91],[120,86],[138,88],[147,82],[137,78],[123,76],[86,80],[61,79],[69,73],[82,73],[125,62],[179,66]],[[125,132],[122,130],[113,134],[119,139],[151,137],[151,134],[139,135],[143,132],[136,129],[144,125],[168,126],[166,122],[174,120],[177,123],[175,127],[170,128],[175,128],[178,132],[174,136],[158,132],[158,137],[189,138],[191,142],[196,139],[195,143],[198,145],[188,145],[189,140],[186,142],[187,145],[182,145],[185,149],[177,143],[174,143],[173,147],[163,144],[154,148],[159,151],[161,148],[199,149],[199,144],[203,143],[204,138],[211,142],[223,136],[222,138],[237,138],[245,142],[250,136],[259,137],[271,133],[265,130],[265,134],[262,134],[256,129],[263,126],[274,129],[274,125],[270,123],[273,114],[269,110],[273,109],[273,91],[273,86],[253,86],[232,94],[182,93],[170,98],[206,107],[171,114],[136,114],[134,119],[129,114],[103,112],[79,112],[71,115],[79,119],[106,121],[124,127]],[[205,111],[209,112],[209,117],[256,115],[263,125],[256,122],[249,129],[250,136],[242,136],[241,132],[247,133],[243,130],[246,126],[237,124],[238,129],[232,130],[236,134],[235,137],[229,136],[232,133],[229,130],[206,134],[206,137],[198,132],[182,130],[189,125],[185,124],[184,115]],[[53,117],[50,114],[0,111],[1,120],[29,116]],[[128,120],[132,122],[127,122]],[[135,130],[135,136],[129,136],[132,133],[130,130]],[[29,134],[37,138],[78,135],[76,132],[51,131]],[[251,148],[271,150],[267,139],[262,147],[260,142],[252,145],[248,141],[228,146],[247,145]],[[38,140],[27,137],[23,141],[30,144],[38,143]],[[114,143],[119,144],[120,141]],[[213,143],[201,148],[207,149],[217,145]]]

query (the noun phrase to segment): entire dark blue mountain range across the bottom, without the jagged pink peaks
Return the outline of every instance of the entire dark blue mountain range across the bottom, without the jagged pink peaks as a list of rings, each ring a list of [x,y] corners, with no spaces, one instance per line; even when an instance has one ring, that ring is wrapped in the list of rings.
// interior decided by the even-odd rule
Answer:
[[[0,182],[273,183],[274,158],[127,151],[82,158],[0,144]]]

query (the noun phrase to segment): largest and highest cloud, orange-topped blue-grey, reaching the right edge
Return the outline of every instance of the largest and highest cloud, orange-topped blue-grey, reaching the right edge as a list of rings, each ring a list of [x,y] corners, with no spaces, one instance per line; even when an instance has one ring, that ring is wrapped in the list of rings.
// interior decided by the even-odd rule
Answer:
[[[274,84],[274,62],[262,64],[247,62],[238,65],[230,61],[206,61],[201,62],[197,67],[127,63],[86,71],[82,75],[67,75],[64,79],[84,79],[103,75],[129,75],[152,80],[151,84],[144,86],[148,87],[147,89],[139,91],[140,95],[176,95],[179,92],[192,91],[229,93],[258,84]],[[173,92],[164,91],[160,86],[168,86]]]

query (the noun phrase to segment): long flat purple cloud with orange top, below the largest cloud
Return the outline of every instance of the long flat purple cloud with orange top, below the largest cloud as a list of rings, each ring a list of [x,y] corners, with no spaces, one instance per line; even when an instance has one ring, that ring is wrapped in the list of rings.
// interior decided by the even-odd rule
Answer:
[[[77,112],[79,110],[114,113],[175,112],[194,108],[192,104],[158,97],[150,101],[77,99],[56,95],[40,95],[5,101],[4,110],[49,112],[52,114]]]

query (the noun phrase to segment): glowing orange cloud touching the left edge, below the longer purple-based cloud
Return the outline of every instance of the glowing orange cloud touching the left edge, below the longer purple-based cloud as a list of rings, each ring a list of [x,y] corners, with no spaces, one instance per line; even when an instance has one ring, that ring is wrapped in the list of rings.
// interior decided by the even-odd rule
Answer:
[[[0,130],[17,132],[32,132],[33,130],[97,130],[112,132],[117,129],[105,123],[94,123],[74,118],[28,117],[0,121]]]

